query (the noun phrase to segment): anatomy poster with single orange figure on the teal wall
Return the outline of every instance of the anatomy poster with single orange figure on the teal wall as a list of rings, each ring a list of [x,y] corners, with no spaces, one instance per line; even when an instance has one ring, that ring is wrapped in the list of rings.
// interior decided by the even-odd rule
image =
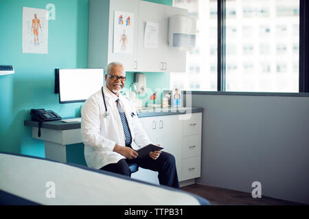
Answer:
[[[48,53],[48,10],[23,7],[23,53]]]

